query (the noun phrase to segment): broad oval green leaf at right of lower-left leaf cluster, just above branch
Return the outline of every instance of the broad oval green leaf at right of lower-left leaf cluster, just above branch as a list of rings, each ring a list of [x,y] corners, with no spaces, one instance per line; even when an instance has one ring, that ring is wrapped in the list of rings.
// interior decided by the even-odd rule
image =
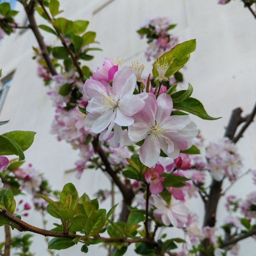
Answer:
[[[85,223],[85,234],[87,236],[97,235],[106,222],[106,210],[93,211]]]

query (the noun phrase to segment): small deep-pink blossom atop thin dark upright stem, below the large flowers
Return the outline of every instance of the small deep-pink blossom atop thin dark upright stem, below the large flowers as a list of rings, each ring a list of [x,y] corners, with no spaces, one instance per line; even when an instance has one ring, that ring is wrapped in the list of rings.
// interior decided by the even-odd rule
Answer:
[[[165,180],[164,177],[160,177],[164,173],[164,167],[160,164],[156,164],[153,168],[148,168],[144,174],[149,189],[152,194],[159,194],[163,191],[162,182]]]

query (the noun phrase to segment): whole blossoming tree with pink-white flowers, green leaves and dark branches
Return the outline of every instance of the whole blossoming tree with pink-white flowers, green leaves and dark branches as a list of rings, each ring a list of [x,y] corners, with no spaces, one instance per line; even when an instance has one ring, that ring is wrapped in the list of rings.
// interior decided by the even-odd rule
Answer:
[[[170,83],[172,76],[176,82],[182,81],[179,70],[196,50],[195,39],[178,44],[168,32],[173,25],[165,18],[154,19],[138,30],[150,44],[147,56],[155,59],[145,78],[144,66],[138,61],[125,66],[121,61],[105,59],[91,71],[83,60],[91,60],[89,52],[100,49],[91,47],[96,34],[86,31],[88,21],[57,18],[61,13],[58,0],[19,2],[39,45],[34,47],[38,75],[49,88],[55,107],[52,133],[79,149],[81,159],[75,163],[78,178],[86,168],[100,169],[109,175],[123,200],[111,209],[101,209],[97,198],[85,193],[78,196],[72,183],[60,193],[52,191],[32,165],[23,167],[23,151],[32,145],[35,133],[2,134],[0,225],[6,233],[4,255],[11,255],[11,244],[19,239],[11,242],[10,227],[53,237],[48,243],[52,250],[79,243],[81,251],[87,253],[90,246],[101,243],[112,256],[124,255],[131,244],[139,255],[237,255],[238,242],[256,234],[255,192],[240,202],[235,196],[227,197],[226,207],[232,214],[222,227],[215,226],[216,211],[220,197],[225,196],[223,180],[228,179],[231,186],[241,173],[235,143],[253,121],[256,106],[247,117],[235,109],[225,138],[204,146],[189,114],[205,122],[218,118],[207,114],[202,103],[191,97],[192,85],[177,90],[177,84]],[[49,26],[37,26],[35,11]],[[21,28],[14,21],[17,12],[9,4],[0,4],[0,13],[5,34]],[[54,34],[61,46],[46,45],[38,28]],[[9,161],[9,155],[19,158]],[[255,180],[255,172],[252,174]],[[30,205],[22,206],[23,202],[17,204],[14,199],[22,190],[33,194],[35,207],[57,219],[51,230],[23,221],[27,212],[19,209],[27,211]],[[98,196],[103,200],[107,194],[99,191]],[[197,195],[205,206],[203,227],[186,205]],[[119,220],[115,220],[113,214],[118,208]],[[158,236],[163,228],[182,229],[185,239]],[[215,233],[217,229],[223,233]],[[21,240],[23,249],[29,246],[29,237]],[[31,255],[28,253],[24,249],[21,255]]]

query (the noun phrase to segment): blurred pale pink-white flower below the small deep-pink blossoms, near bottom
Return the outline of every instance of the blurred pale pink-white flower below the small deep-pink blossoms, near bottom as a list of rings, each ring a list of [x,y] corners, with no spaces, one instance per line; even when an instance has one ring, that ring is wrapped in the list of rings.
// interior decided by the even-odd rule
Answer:
[[[161,197],[152,195],[156,210],[154,214],[161,215],[165,226],[172,224],[174,227],[182,228],[188,221],[188,207],[179,200],[172,197],[170,204],[167,204]]]

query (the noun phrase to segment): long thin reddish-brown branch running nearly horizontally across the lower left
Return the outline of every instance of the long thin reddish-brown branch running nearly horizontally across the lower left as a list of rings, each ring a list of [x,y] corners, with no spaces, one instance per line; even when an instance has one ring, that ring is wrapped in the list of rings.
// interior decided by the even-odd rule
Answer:
[[[55,231],[49,231],[42,228],[37,228],[29,225],[27,222],[20,220],[14,215],[7,212],[5,209],[1,209],[0,215],[11,222],[15,223],[18,226],[19,231],[30,231],[32,233],[36,233],[43,236],[51,236],[51,237],[66,237],[66,238],[76,238],[76,237],[84,237],[86,239],[94,239],[94,237],[85,237],[83,235],[73,234],[73,233],[60,233]],[[105,243],[138,243],[138,242],[146,242],[146,243],[155,243],[153,239],[148,238],[109,238],[109,237],[99,237]]]

